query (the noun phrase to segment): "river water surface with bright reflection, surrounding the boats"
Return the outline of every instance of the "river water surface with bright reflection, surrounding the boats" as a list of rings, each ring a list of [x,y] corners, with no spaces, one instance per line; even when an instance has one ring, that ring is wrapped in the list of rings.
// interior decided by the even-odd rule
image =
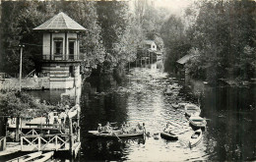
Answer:
[[[173,85],[171,90],[166,90]],[[166,92],[167,91],[167,92]],[[79,161],[132,160],[252,160],[256,159],[255,85],[248,87],[210,87],[199,81],[184,80],[173,74],[150,69],[132,69],[118,85],[111,77],[91,78],[83,85],[82,149]],[[200,104],[207,118],[202,142],[188,147],[193,130],[171,103]],[[128,122],[146,124],[150,137],[123,139],[92,138],[87,133],[98,123]],[[176,127],[177,141],[155,139],[167,122]]]

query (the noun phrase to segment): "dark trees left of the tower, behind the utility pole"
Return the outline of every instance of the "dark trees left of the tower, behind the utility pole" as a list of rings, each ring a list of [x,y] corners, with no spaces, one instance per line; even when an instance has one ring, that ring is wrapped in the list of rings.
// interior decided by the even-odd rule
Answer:
[[[30,73],[39,65],[41,55],[41,36],[32,30],[53,16],[51,2],[3,2],[3,63],[4,71],[19,72],[19,44],[25,44],[23,74]]]

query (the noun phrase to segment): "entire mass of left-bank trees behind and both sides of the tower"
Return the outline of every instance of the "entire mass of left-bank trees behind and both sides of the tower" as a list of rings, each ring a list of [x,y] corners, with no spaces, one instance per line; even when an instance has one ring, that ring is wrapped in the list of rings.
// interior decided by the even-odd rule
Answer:
[[[104,69],[123,66],[134,60],[136,48],[144,38],[142,24],[131,13],[128,2],[91,1],[19,1],[2,3],[4,28],[3,63],[7,73],[18,73],[20,49],[24,43],[23,73],[34,68],[39,71],[41,57],[41,33],[33,31],[59,12],[66,13],[88,31],[80,34],[82,65]],[[111,10],[109,10],[111,9]],[[161,41],[159,41],[161,42]],[[12,68],[10,68],[12,67]]]

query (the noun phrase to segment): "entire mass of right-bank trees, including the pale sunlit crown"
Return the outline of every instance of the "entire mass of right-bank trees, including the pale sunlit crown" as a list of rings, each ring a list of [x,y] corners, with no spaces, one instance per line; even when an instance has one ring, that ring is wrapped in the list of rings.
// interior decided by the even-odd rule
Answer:
[[[186,54],[190,76],[219,79],[255,78],[256,2],[250,0],[198,1],[182,18],[170,16],[161,27],[167,55],[165,68]],[[199,55],[199,56],[198,56]]]

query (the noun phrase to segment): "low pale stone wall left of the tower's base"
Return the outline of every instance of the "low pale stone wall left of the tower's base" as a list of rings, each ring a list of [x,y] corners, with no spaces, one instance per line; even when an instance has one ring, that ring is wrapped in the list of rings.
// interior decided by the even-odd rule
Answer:
[[[1,79],[0,89],[18,90],[20,85],[19,79]],[[23,89],[48,89],[50,88],[49,78],[28,78],[22,80]]]

